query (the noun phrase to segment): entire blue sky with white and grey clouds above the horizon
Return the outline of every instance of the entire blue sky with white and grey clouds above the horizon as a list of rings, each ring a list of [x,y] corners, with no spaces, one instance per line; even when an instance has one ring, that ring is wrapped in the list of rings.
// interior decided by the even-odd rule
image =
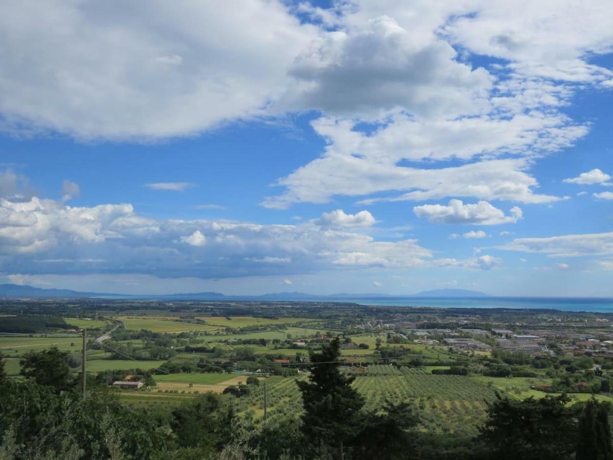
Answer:
[[[0,283],[613,297],[607,0],[0,6]]]

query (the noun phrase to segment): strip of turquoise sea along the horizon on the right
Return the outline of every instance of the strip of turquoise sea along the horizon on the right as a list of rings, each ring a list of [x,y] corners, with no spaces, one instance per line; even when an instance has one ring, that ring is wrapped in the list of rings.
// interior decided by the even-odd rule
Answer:
[[[330,299],[387,307],[440,307],[443,309],[546,309],[563,312],[613,313],[613,298],[603,297],[381,297]]]

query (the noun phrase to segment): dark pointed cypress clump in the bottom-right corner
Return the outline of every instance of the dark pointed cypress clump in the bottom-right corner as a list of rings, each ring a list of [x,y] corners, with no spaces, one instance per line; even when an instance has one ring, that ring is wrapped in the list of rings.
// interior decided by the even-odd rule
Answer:
[[[609,409],[605,403],[599,403],[594,398],[585,404],[584,411],[579,417],[576,459],[613,459]]]

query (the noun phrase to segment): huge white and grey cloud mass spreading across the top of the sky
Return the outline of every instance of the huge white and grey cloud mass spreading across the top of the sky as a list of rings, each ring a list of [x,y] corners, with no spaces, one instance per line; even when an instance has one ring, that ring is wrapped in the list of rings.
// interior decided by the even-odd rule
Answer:
[[[0,129],[142,141],[319,113],[326,150],[267,207],[556,201],[529,170],[588,132],[561,111],[577,85],[613,87],[590,62],[613,49],[606,0],[25,0],[0,13]]]

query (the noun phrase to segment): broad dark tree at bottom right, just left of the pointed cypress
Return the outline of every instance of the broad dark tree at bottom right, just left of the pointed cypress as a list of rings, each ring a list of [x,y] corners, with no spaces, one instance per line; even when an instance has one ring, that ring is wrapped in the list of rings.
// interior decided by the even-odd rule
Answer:
[[[577,439],[577,423],[566,394],[524,401],[498,395],[488,404],[481,439],[499,459],[554,460],[568,458]]]

